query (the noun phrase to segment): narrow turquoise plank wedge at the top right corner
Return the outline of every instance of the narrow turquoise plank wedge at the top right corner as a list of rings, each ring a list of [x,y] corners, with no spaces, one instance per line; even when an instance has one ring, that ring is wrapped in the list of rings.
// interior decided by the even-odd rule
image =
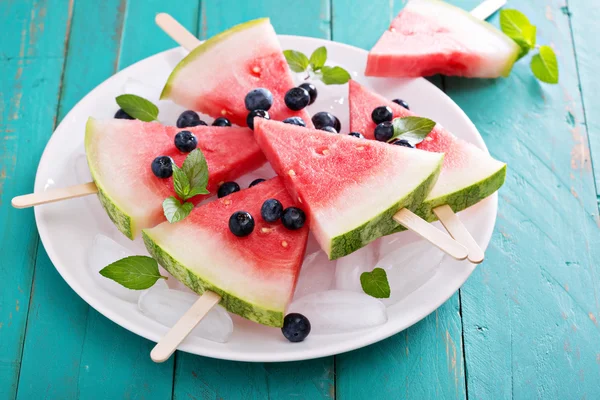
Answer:
[[[596,160],[592,163],[596,181],[596,193],[600,199],[600,116],[596,112],[600,107],[598,93],[600,81],[597,77],[598,50],[596,43],[590,38],[598,37],[600,27],[597,24],[600,18],[600,9],[594,7],[589,0],[569,0],[568,6],[561,8],[561,12],[571,20],[571,30],[575,43],[575,54],[579,78],[581,79],[581,92],[585,109],[585,124],[590,142],[590,152]],[[574,120],[569,119],[569,121]],[[583,129],[584,121],[579,120]]]

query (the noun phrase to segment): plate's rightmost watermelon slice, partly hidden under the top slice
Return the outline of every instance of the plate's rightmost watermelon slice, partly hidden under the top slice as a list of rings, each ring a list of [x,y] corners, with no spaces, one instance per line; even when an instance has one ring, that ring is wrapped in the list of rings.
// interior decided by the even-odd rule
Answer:
[[[370,92],[351,80],[348,102],[350,130],[374,139],[375,123],[371,112],[379,106],[388,106],[394,118],[413,116],[404,107]],[[396,147],[396,146],[394,146]],[[444,167],[433,190],[416,213],[427,221],[436,220],[435,207],[448,204],[455,212],[464,210],[488,197],[504,184],[506,164],[497,161],[471,143],[457,138],[437,124],[418,149],[444,153]]]

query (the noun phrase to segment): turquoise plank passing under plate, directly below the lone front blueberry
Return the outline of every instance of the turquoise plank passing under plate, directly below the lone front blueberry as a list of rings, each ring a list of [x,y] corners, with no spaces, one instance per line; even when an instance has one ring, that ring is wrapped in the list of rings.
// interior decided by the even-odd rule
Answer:
[[[329,2],[202,2],[201,37],[270,16],[278,33],[328,38]],[[238,363],[176,353],[174,398],[320,399],[334,397],[333,357],[301,363]]]

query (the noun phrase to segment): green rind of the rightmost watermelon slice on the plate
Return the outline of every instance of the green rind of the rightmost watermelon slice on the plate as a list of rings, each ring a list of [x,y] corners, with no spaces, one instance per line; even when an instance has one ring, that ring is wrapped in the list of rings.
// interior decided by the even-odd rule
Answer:
[[[454,212],[465,210],[481,200],[491,196],[502,187],[506,179],[506,164],[502,165],[498,171],[488,177],[475,182],[456,192],[448,193],[434,199],[424,201],[415,211],[415,214],[426,220],[433,222],[437,220],[437,216],[433,209],[443,205],[449,205]],[[394,232],[406,230],[403,226],[399,226]]]

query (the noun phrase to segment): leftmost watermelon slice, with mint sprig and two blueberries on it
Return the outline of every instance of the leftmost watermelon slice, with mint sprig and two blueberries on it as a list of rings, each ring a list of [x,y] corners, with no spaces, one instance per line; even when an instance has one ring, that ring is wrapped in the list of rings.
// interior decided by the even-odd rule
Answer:
[[[186,128],[198,138],[209,170],[207,189],[253,171],[265,162],[248,128],[197,126]],[[100,202],[117,228],[134,239],[143,228],[165,220],[162,202],[174,196],[172,178],[157,178],[150,168],[158,156],[170,156],[179,166],[187,154],[177,150],[181,129],[155,122],[95,120],[85,132],[85,152]],[[199,202],[202,196],[191,201]]]

